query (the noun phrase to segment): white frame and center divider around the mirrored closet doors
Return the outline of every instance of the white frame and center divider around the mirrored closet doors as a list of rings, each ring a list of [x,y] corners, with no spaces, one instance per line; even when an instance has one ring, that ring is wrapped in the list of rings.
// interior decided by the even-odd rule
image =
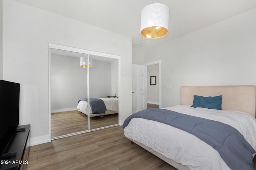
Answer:
[[[51,59],[51,52],[50,49],[57,49],[57,50],[63,50],[63,51],[69,51],[69,52],[75,52],[75,53],[82,53],[82,54],[86,54],[88,55],[88,62],[89,62],[89,56],[93,55],[93,56],[99,56],[99,57],[108,57],[108,58],[112,58],[112,59],[117,59],[118,60],[118,94],[120,94],[120,68],[119,68],[119,62],[120,62],[120,56],[119,55],[112,55],[112,54],[107,54],[107,53],[101,53],[101,52],[96,52],[96,51],[90,51],[90,50],[86,50],[86,49],[79,49],[79,48],[74,48],[74,47],[68,47],[68,46],[64,46],[64,45],[58,45],[58,44],[53,44],[53,43],[49,43],[49,133],[50,133],[50,137],[51,137],[51,70],[50,70],[50,59]],[[87,98],[90,98],[90,86],[89,86],[89,67],[87,68]],[[89,105],[89,102],[88,102]],[[120,102],[118,102],[118,115],[120,113]],[[87,113],[89,113],[89,107],[87,107]],[[96,130],[100,130],[100,129],[105,129],[108,127],[113,127],[113,126],[118,126],[120,124],[120,116],[118,116],[118,124],[116,125],[110,125],[110,126],[106,126],[106,127],[100,127],[97,129],[90,129],[90,114],[88,114],[88,129],[85,131],[80,131],[80,132],[76,132],[76,133],[70,133],[67,135],[62,135],[62,136],[58,136],[58,137],[51,137],[51,140],[54,139],[60,139],[63,137],[69,137],[69,136],[73,136],[73,135],[78,135],[78,134],[82,134],[82,133],[87,133],[90,131],[96,131]]]

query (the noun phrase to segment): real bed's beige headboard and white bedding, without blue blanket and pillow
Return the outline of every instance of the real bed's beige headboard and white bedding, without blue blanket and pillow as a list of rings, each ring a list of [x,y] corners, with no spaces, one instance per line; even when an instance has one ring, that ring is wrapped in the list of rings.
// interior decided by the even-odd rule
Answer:
[[[222,110],[191,107],[194,95],[221,95]],[[180,105],[164,109],[230,125],[244,136],[252,150],[256,149],[255,86],[183,86]],[[139,117],[123,128],[128,139],[179,170],[230,169],[217,150],[186,131]],[[249,154],[251,160],[254,151]]]

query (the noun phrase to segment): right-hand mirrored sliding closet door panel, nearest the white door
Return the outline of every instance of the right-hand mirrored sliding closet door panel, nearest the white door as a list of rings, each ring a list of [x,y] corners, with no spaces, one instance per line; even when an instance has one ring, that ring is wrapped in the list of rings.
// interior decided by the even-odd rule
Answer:
[[[90,55],[90,129],[118,124],[118,59]]]

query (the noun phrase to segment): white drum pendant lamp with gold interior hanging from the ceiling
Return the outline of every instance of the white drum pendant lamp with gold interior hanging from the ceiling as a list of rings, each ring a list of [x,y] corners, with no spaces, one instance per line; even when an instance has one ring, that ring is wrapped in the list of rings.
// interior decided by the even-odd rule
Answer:
[[[140,34],[146,38],[160,38],[168,33],[169,8],[164,4],[149,4],[141,11]]]

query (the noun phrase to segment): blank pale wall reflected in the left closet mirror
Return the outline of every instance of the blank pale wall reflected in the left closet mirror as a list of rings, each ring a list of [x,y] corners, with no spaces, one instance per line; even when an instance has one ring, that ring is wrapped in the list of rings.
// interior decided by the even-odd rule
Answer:
[[[51,112],[76,108],[87,96],[87,70],[80,67],[80,58],[51,54],[50,78]]]

